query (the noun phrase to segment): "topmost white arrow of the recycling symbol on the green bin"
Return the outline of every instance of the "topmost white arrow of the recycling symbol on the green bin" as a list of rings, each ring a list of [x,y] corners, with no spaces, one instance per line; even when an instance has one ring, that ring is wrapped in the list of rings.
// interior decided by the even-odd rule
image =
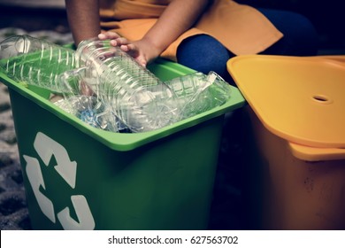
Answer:
[[[55,156],[58,165],[54,168],[64,178],[65,182],[74,189],[77,177],[77,163],[70,160],[65,147],[41,132],[36,135],[34,147],[47,167],[51,157]]]

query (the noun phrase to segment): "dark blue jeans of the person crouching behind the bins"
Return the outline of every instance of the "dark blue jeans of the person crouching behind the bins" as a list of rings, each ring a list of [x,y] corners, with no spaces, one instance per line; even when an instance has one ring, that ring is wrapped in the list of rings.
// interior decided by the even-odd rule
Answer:
[[[261,54],[314,56],[318,52],[318,34],[309,19],[295,12],[257,9],[262,12],[284,37]],[[177,50],[177,61],[184,66],[208,74],[214,71],[226,81],[231,77],[226,61],[234,54],[210,35],[188,37]]]

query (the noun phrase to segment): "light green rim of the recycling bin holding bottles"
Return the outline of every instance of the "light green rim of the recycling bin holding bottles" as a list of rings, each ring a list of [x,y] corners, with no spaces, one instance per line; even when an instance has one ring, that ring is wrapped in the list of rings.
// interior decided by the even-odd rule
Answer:
[[[188,74],[194,72],[194,70],[189,69],[186,66],[182,66],[172,61],[168,61],[162,58],[158,58],[156,62],[161,66],[169,67],[173,71],[180,72],[182,74]],[[239,89],[229,85],[231,87],[231,97],[226,102],[226,104],[215,107],[210,111],[203,112],[188,118],[186,120],[180,120],[179,122],[173,123],[165,128],[159,128],[157,130],[142,132],[142,133],[114,133],[110,131],[105,131],[99,128],[94,128],[73,116],[68,112],[60,109],[57,105],[50,102],[31,89],[28,89],[24,84],[9,78],[4,72],[0,70],[0,79],[2,82],[10,89],[13,89],[23,97],[33,101],[35,104],[40,105],[43,109],[56,115],[59,119],[71,124],[74,128],[79,129],[81,132],[95,138],[98,142],[103,143],[108,146],[111,150],[115,151],[131,151],[147,143],[151,143],[158,139],[164,138],[166,136],[171,136],[183,129],[194,127],[199,123],[206,120],[211,120],[212,118],[224,115],[226,112],[231,112],[237,108],[242,107],[245,104],[245,99]]]

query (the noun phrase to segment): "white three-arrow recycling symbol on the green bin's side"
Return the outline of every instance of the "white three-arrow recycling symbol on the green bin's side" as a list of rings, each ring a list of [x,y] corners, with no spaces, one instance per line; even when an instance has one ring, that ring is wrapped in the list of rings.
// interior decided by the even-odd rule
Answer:
[[[35,137],[34,147],[46,167],[49,166],[51,157],[53,155],[55,156],[58,163],[58,165],[54,167],[55,170],[61,175],[65,182],[74,189],[77,176],[77,163],[70,160],[65,147],[41,132],[38,132]],[[57,220],[53,202],[40,190],[41,186],[46,190],[40,162],[38,159],[27,155],[23,155],[23,157],[27,161],[27,177],[34,190],[38,205],[42,213],[44,213],[50,221],[56,223]],[[65,207],[62,211],[57,213],[58,221],[61,223],[61,226],[64,229],[95,229],[94,217],[88,206],[87,199],[83,195],[73,195],[71,196],[71,201],[75,213],[77,214],[78,221],[73,220],[70,216],[69,207]]]

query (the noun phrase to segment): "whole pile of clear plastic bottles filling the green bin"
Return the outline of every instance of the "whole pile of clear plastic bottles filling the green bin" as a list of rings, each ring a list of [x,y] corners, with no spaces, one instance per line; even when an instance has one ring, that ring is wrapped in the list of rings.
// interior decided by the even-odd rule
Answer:
[[[144,132],[223,105],[231,88],[217,74],[160,81],[109,41],[90,39],[70,50],[28,35],[0,43],[0,66],[10,78],[50,89],[54,104],[89,125]]]

